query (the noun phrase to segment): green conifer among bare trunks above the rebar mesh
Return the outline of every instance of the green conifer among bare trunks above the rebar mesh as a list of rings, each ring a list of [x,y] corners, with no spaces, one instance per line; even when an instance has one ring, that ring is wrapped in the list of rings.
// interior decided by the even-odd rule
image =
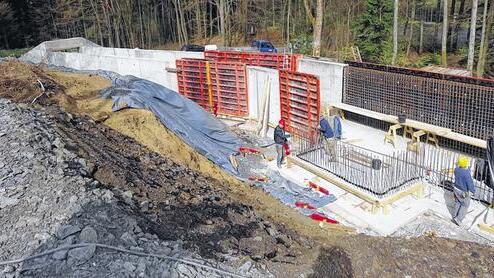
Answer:
[[[392,56],[393,1],[367,0],[365,11],[354,26],[362,58],[389,63]]]

